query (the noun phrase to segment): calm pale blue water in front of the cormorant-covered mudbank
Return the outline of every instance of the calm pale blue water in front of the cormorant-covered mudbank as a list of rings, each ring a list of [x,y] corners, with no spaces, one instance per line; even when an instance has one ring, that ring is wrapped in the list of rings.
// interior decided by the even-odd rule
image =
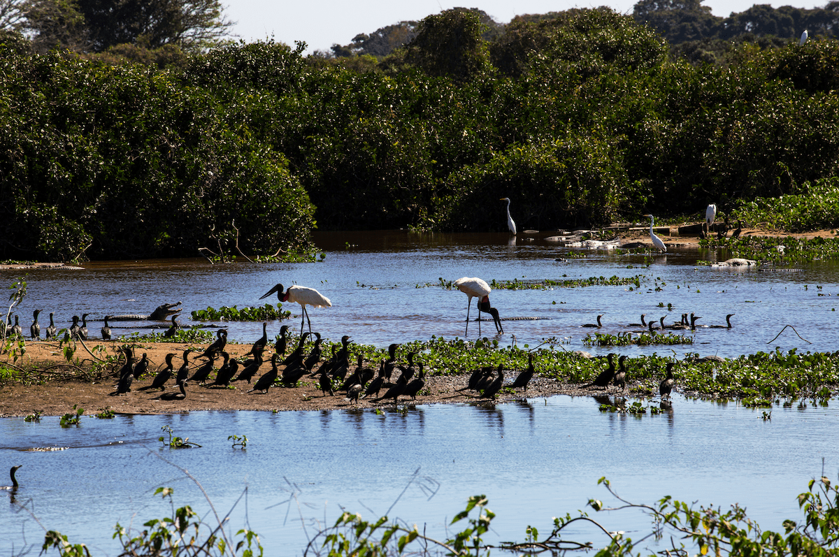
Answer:
[[[605,500],[601,476],[634,502],[668,494],[722,507],[739,502],[763,528],[779,529],[784,518],[798,517],[795,496],[821,474],[822,457],[829,476],[839,467],[833,445],[813,443],[832,438],[831,407],[776,407],[764,422],[758,411],[733,403],[675,397],[672,405],[665,414],[635,417],[602,413],[589,397],[554,397],[380,414],[117,416],[83,419],[70,429],[58,418],[2,419],[0,461],[23,465],[16,500],[45,528],[101,554],[116,552],[110,534],[117,521],[137,526],[169,512],[153,496],[157,487],[174,487],[175,505],[211,516],[179,467],[201,482],[216,510],[232,509],[232,530],[249,524],[269,554],[302,549],[344,509],[427,523],[430,535],[445,536],[446,523],[478,493],[498,513],[492,536],[523,539],[528,524],[546,532],[550,517],[584,508],[590,497]],[[162,448],[164,425],[202,448]],[[247,450],[232,448],[227,437],[234,434],[248,436]],[[49,446],[70,448],[29,450]],[[759,488],[766,485],[773,489]],[[644,516],[598,519],[636,538],[650,528]],[[0,553],[38,544],[42,535],[28,512],[0,505]]]

